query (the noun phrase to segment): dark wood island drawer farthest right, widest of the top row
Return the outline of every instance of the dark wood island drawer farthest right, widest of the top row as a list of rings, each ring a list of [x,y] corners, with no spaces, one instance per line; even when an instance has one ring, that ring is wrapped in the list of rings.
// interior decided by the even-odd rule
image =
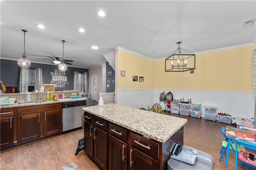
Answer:
[[[135,146],[154,158],[159,158],[159,143],[133,132],[130,132],[130,143],[132,146]]]

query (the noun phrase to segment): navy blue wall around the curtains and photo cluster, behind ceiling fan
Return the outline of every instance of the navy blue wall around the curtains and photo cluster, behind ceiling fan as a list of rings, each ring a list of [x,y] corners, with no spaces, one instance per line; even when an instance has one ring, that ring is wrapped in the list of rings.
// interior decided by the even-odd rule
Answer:
[[[52,76],[50,72],[58,69],[58,65],[48,65],[40,63],[31,63],[30,67],[42,68],[43,84],[50,84]],[[73,90],[74,89],[74,71],[88,72],[88,69],[68,67],[66,76],[68,85],[65,87],[55,87],[56,90]],[[17,61],[0,59],[0,80],[4,85],[19,85],[20,84],[20,67]]]

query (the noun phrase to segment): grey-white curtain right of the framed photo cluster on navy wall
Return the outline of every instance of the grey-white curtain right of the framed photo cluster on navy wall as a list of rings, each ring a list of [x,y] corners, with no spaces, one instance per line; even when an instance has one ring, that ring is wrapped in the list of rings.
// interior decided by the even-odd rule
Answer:
[[[88,93],[88,73],[79,73],[74,71],[74,90],[80,90]]]

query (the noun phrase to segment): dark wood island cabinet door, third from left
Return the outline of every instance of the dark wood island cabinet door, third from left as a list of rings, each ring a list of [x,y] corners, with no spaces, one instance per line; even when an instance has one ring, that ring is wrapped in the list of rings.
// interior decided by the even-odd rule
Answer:
[[[109,135],[108,140],[108,169],[127,169],[127,144]]]

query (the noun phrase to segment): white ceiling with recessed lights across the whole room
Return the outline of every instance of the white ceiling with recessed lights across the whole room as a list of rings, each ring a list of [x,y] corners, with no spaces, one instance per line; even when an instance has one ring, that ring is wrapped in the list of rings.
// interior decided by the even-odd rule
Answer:
[[[192,53],[256,42],[256,1],[0,1],[1,58],[51,63],[46,56],[73,60],[72,66],[102,65],[103,53],[122,47],[152,59],[180,47]],[[105,17],[97,15],[106,12]],[[43,24],[39,29],[36,24]],[[78,32],[84,28],[85,32]],[[97,45],[98,50],[90,46]],[[98,61],[100,60],[100,61]],[[69,65],[68,65],[69,66]]]

